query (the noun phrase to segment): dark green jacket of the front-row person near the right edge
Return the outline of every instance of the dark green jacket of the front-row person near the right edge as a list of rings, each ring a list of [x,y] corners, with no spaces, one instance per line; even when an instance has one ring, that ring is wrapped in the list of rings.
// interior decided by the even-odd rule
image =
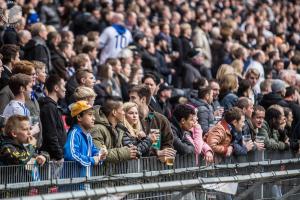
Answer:
[[[288,145],[284,143],[287,136],[285,135],[284,140],[281,141],[280,133],[278,130],[271,129],[268,123],[265,121],[262,127],[258,130],[259,136],[265,137],[265,148],[271,150],[285,150],[288,148]]]

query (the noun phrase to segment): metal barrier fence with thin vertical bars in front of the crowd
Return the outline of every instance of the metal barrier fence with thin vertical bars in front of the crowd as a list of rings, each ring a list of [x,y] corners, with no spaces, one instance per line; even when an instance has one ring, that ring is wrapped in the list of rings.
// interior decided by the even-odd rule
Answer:
[[[0,197],[12,198],[19,196],[70,192],[84,189],[114,188],[125,185],[161,183],[178,180],[196,179],[199,177],[230,177],[249,175],[251,173],[268,173],[280,170],[300,168],[300,159],[290,151],[254,152],[247,157],[230,157],[223,163],[206,166],[204,162],[198,166],[194,155],[179,156],[173,166],[166,166],[155,157],[141,158],[123,163],[105,163],[92,168],[90,176],[82,177],[78,173],[78,164],[65,162],[63,166],[49,163],[44,166],[5,166],[0,167]],[[296,177],[297,178],[297,177]],[[294,188],[298,179],[287,179],[281,185],[285,191]],[[249,191],[252,182],[241,183],[241,191]],[[268,197],[268,184],[258,184],[257,196]],[[178,188],[177,188],[178,189]],[[182,189],[182,188],[181,188]],[[181,190],[180,188],[178,190]],[[212,192],[211,189],[198,188],[195,195]],[[129,192],[130,193],[130,192]],[[194,196],[195,196],[194,195]],[[157,199],[173,199],[172,192],[152,192],[127,194],[127,199],[146,199],[156,196]],[[243,196],[243,195],[242,195]]]

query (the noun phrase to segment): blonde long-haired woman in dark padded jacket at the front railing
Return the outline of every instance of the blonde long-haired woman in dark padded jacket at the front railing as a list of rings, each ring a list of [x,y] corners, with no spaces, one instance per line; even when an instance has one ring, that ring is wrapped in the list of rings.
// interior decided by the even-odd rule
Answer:
[[[127,102],[123,105],[123,109],[125,112],[123,123],[128,130],[123,136],[123,146],[134,145],[138,149],[139,156],[149,155],[152,143],[157,140],[156,134],[150,133],[147,136],[143,131],[137,104]]]

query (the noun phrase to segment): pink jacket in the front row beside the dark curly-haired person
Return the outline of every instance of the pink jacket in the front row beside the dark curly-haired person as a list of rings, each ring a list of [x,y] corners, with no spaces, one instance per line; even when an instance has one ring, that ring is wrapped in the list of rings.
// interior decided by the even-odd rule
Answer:
[[[195,148],[195,155],[196,155],[196,164],[198,165],[198,156],[199,154],[206,155],[208,151],[212,151],[210,146],[203,141],[202,138],[202,128],[199,124],[197,124],[194,128],[191,130],[192,136],[187,135],[187,139],[194,145]]]

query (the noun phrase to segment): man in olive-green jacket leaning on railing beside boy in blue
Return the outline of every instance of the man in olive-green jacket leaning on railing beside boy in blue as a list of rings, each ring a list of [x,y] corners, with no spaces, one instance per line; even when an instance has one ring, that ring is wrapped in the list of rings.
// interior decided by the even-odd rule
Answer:
[[[123,103],[107,100],[103,107],[95,112],[95,126],[91,130],[98,148],[106,147],[108,162],[121,162],[137,158],[136,146],[123,146],[122,140],[127,129],[120,123],[124,119]]]

